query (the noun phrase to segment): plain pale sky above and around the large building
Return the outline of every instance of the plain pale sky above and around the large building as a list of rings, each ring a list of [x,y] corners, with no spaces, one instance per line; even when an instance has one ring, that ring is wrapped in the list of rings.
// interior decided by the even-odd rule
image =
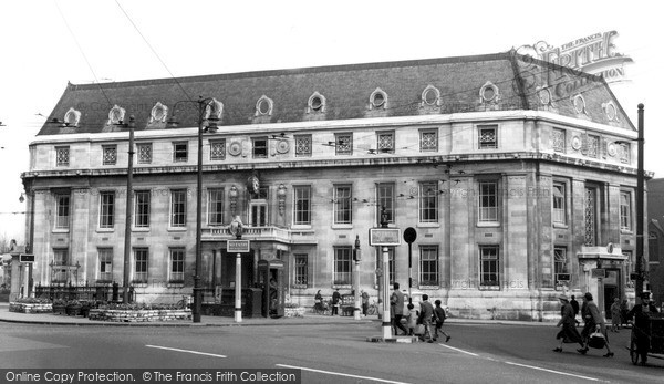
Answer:
[[[633,59],[612,85],[636,126],[645,105],[645,168],[664,177],[656,118],[664,32],[656,1],[0,2],[0,238],[24,239],[19,201],[28,145],[68,82],[90,84],[560,46],[618,31]],[[654,80],[654,81],[653,81]]]

